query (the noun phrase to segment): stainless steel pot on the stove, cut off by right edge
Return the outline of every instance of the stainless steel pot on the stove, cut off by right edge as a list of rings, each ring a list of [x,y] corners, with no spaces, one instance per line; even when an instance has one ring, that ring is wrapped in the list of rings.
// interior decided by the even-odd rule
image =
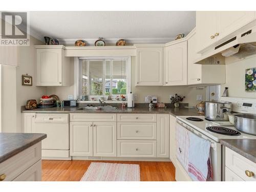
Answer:
[[[241,132],[256,135],[256,114],[234,115],[234,127]]]

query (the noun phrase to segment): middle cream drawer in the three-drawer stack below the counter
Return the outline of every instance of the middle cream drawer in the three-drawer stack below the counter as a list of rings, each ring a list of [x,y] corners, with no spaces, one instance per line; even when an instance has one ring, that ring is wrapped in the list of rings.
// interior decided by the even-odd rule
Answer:
[[[156,123],[121,122],[117,123],[117,139],[156,140]]]

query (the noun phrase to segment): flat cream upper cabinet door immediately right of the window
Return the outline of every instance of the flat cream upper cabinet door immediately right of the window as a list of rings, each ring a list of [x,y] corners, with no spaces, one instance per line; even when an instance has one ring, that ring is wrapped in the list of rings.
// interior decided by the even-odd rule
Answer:
[[[136,86],[163,86],[163,48],[137,48],[136,51]]]

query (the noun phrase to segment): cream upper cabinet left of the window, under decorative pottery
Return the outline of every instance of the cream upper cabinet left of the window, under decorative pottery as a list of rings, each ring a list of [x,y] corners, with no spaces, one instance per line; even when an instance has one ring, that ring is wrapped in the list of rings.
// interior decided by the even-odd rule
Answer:
[[[36,46],[36,86],[69,86],[69,74],[63,46]]]

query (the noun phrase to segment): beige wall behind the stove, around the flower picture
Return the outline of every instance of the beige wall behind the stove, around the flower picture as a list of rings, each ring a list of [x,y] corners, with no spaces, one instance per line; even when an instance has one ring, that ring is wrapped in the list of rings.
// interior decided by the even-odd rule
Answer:
[[[226,84],[221,85],[221,94],[228,87],[229,97],[256,98],[256,92],[245,91],[245,70],[256,67],[256,56],[236,61],[232,57],[227,57],[226,62]]]

